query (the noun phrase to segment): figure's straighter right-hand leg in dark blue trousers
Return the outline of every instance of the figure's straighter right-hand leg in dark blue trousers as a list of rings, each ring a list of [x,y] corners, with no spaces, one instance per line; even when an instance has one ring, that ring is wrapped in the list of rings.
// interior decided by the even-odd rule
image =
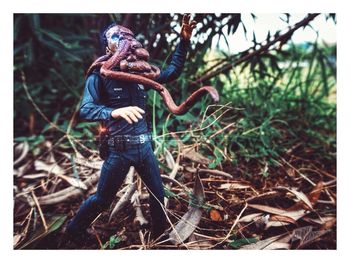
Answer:
[[[152,234],[154,237],[160,236],[166,229],[166,216],[164,206],[164,188],[158,161],[153,153],[150,143],[143,150],[144,159],[135,167],[141,176],[142,181],[147,186],[150,195],[150,214],[152,219]]]

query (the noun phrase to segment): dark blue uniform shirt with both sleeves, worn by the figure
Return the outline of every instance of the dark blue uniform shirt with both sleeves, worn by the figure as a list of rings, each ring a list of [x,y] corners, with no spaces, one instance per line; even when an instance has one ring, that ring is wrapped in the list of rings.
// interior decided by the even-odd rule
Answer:
[[[181,40],[177,46],[170,65],[161,70],[155,81],[168,83],[178,78],[186,60],[189,41]],[[80,106],[80,118],[87,121],[103,121],[111,135],[138,135],[148,131],[146,114],[143,119],[129,124],[123,118],[114,119],[114,109],[138,106],[146,110],[147,90],[141,84],[102,78],[98,71],[86,79],[83,100]]]

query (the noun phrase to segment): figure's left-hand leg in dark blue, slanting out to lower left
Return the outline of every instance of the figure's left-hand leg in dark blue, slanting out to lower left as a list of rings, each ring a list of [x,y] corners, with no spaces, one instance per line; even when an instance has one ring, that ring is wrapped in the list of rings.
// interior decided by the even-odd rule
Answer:
[[[67,226],[68,233],[84,232],[96,216],[110,206],[129,167],[129,161],[119,153],[110,152],[108,159],[103,163],[96,193],[80,206],[78,213]]]

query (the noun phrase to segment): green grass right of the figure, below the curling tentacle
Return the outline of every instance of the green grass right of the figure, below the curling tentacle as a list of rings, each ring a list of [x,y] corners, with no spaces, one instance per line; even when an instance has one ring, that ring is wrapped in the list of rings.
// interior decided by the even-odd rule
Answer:
[[[312,152],[310,159],[334,164],[336,76],[335,66],[328,63],[332,49],[313,44],[307,52],[291,59],[296,56],[293,48],[285,66],[278,70],[252,74],[247,68],[236,68],[232,74],[214,79],[220,104],[228,103],[230,107],[227,112],[222,107],[215,114],[210,115],[209,110],[204,116],[210,104],[207,98],[185,116],[170,116],[155,95],[157,100],[151,101],[156,113],[153,131],[163,135],[181,131],[184,143],[198,144],[202,153],[211,156],[210,168],[225,162],[233,166],[253,162],[261,167],[261,175],[268,176],[266,167],[279,166],[281,157],[291,149]],[[202,118],[206,123],[214,123],[200,129]],[[193,132],[198,129],[199,132]],[[161,138],[163,148],[176,147],[174,142]]]

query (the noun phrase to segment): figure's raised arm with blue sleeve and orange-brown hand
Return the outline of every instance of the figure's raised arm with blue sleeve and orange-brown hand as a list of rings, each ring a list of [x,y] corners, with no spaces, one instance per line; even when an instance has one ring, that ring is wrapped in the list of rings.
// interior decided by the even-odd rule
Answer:
[[[159,77],[155,81],[159,83],[167,83],[177,79],[184,67],[187,51],[190,46],[190,39],[193,29],[196,27],[197,22],[191,21],[191,16],[185,14],[182,18],[181,32],[180,32],[180,43],[176,47],[175,53],[172,57],[170,65],[162,70]]]

